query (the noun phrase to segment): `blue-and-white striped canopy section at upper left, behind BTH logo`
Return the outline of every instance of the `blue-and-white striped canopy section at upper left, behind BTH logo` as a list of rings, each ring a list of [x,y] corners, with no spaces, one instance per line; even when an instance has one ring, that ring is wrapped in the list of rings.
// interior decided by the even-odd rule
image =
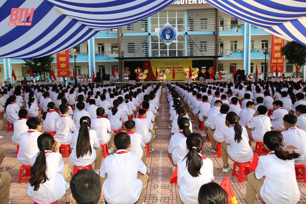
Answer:
[[[79,45],[103,30],[130,25],[175,0],[2,0],[0,58],[27,59]],[[31,26],[9,26],[12,8],[34,8]],[[21,19],[21,18],[20,18]]]

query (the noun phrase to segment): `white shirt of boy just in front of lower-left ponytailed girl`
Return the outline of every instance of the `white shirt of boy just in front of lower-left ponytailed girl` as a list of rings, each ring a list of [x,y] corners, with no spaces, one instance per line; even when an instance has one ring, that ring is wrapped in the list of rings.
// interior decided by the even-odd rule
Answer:
[[[31,166],[33,156],[39,152],[37,138],[41,134],[33,129],[20,134],[19,153],[17,154],[17,160],[20,164]]]

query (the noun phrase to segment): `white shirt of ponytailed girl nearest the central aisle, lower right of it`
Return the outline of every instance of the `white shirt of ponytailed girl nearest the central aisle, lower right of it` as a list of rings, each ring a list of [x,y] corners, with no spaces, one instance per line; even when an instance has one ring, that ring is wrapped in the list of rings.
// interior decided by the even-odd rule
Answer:
[[[215,179],[213,162],[200,153],[203,159],[203,165],[200,169],[200,175],[192,177],[186,167],[186,159],[181,159],[177,163],[177,184],[180,186],[179,194],[183,203],[196,203],[200,187],[210,183]]]

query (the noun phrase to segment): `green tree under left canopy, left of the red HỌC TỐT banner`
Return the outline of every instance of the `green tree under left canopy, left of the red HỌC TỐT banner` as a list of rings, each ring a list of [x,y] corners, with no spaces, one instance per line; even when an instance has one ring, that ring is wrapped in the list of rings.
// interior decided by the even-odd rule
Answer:
[[[51,63],[54,62],[54,57],[52,55],[47,55],[44,57],[24,59],[23,60],[27,67],[27,73],[30,73],[30,68],[35,76],[43,76],[46,78],[46,72],[51,72]]]

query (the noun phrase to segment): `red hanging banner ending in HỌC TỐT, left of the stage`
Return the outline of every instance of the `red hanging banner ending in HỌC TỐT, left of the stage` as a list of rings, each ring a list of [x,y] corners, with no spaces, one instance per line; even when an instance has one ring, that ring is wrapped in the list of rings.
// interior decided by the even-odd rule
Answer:
[[[69,50],[56,54],[58,77],[70,77]]]

